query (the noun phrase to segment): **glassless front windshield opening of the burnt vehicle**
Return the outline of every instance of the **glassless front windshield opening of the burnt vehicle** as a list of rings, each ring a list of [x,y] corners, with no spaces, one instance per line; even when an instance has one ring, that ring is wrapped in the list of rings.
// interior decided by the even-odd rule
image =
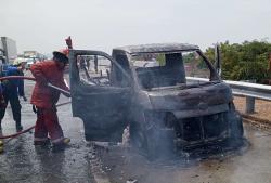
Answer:
[[[140,53],[132,55],[139,83],[143,89],[186,84],[185,77],[209,78],[210,71],[196,51]]]

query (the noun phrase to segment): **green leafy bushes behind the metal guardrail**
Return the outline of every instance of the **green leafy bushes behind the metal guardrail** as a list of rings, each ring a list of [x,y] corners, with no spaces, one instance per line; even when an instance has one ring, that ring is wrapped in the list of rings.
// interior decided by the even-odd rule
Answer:
[[[241,44],[220,43],[222,60],[222,78],[228,80],[251,80],[262,82],[270,77],[268,71],[271,43],[267,41],[245,41]],[[215,50],[208,48],[206,56],[215,62]]]

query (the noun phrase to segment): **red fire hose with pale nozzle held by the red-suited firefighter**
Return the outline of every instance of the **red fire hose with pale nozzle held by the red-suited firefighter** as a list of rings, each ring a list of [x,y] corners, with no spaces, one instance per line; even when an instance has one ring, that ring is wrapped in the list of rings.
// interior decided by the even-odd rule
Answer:
[[[11,80],[11,79],[26,79],[26,80],[36,81],[35,78],[33,78],[33,77],[25,77],[25,76],[7,76],[7,77],[1,77],[1,78],[0,78],[0,81],[2,81],[2,80]],[[63,89],[61,89],[61,88],[59,88],[59,87],[55,87],[55,86],[53,86],[53,84],[51,84],[51,83],[48,83],[48,87],[50,87],[50,88],[52,88],[52,89],[54,89],[54,90],[57,90],[57,91],[60,91],[60,92],[62,92],[62,93],[65,93],[65,94],[67,94],[67,95],[70,95],[70,93],[69,93],[68,91],[65,91],[65,90],[63,90]],[[70,103],[70,102],[61,103],[61,104],[57,104],[56,107],[63,106],[63,105],[66,105],[66,104],[69,104],[69,103]],[[26,132],[33,130],[34,128],[35,128],[35,126],[33,126],[33,127],[30,127],[30,128],[27,128],[27,129],[25,129],[25,130],[23,130],[23,131],[21,131],[21,132],[14,133],[14,134],[2,135],[2,136],[0,136],[0,140],[10,139],[10,138],[16,138],[16,136],[18,136],[18,135],[21,135],[21,134],[23,134],[23,133],[26,133]]]

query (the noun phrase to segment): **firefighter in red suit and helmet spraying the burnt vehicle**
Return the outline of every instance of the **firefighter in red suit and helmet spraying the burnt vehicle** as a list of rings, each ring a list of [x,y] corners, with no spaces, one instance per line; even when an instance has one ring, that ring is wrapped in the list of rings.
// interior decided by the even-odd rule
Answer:
[[[34,145],[47,145],[51,142],[53,147],[63,147],[70,141],[68,138],[64,138],[56,115],[55,104],[61,93],[48,87],[48,83],[52,83],[69,91],[63,78],[64,68],[68,63],[67,54],[68,50],[54,51],[51,61],[40,62],[30,67],[30,71],[36,78],[31,95],[34,112],[37,112]],[[63,94],[69,96],[65,93]]]

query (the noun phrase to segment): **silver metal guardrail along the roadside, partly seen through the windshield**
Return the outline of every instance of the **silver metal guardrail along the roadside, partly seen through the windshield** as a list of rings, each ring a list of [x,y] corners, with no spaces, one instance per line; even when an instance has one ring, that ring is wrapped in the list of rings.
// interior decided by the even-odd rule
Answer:
[[[207,78],[186,77],[192,82],[208,82]],[[271,86],[249,83],[244,81],[223,80],[232,88],[232,92],[237,96],[246,96],[246,113],[253,113],[255,99],[271,101]]]

